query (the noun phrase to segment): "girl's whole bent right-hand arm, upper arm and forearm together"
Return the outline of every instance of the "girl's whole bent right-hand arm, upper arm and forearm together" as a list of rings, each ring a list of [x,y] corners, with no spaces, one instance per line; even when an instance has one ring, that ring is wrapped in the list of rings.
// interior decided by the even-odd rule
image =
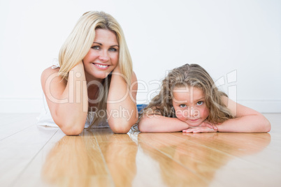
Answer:
[[[235,119],[217,125],[219,132],[266,133],[271,130],[271,123],[261,113],[240,105],[226,96],[222,96],[222,100]]]

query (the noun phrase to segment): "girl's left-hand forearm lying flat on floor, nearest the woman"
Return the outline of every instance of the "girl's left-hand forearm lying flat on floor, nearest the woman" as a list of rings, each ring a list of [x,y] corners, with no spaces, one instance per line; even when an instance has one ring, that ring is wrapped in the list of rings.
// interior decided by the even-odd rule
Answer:
[[[163,117],[161,114],[144,114],[138,124],[138,130],[146,132],[178,132],[189,125],[178,118]]]

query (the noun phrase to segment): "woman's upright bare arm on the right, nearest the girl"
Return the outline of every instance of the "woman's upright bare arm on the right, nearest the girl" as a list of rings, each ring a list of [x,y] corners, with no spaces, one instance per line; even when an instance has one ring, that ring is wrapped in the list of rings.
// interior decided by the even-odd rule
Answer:
[[[138,120],[136,107],[136,92],[138,83],[136,74],[131,77],[131,88],[120,73],[117,66],[111,75],[108,91],[108,102],[106,112],[108,114],[108,125],[114,133],[128,133],[131,126]]]

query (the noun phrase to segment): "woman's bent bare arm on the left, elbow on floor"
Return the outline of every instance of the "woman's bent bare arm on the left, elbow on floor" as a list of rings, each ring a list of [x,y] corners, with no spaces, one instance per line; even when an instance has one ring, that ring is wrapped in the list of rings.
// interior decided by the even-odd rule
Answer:
[[[58,76],[58,69],[47,68],[41,85],[55,124],[66,135],[79,135],[87,119],[88,96],[82,61],[69,72],[69,80]]]

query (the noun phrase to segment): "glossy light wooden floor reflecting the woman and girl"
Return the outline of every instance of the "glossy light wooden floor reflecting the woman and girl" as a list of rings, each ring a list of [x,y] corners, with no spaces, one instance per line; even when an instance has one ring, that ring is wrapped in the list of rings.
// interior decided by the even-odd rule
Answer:
[[[271,133],[66,136],[38,114],[0,114],[0,186],[281,186],[281,114]]]

